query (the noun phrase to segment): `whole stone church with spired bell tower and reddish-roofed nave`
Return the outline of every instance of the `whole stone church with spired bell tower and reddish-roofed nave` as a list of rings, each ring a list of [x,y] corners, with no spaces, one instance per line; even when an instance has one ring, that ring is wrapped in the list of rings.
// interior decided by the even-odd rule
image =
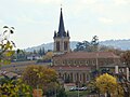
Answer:
[[[63,11],[61,8],[58,31],[54,31],[54,56],[52,68],[64,82],[87,83],[91,80],[90,73],[102,66],[118,64],[119,56],[110,52],[72,52],[70,36],[65,31]]]

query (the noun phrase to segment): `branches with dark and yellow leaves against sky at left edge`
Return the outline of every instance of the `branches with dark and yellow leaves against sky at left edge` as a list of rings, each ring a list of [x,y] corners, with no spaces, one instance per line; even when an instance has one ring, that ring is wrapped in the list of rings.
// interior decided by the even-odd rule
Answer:
[[[13,47],[15,43],[9,40],[10,34],[14,32],[14,27],[3,27],[3,32],[0,34],[0,65],[9,64],[11,56],[14,54]]]

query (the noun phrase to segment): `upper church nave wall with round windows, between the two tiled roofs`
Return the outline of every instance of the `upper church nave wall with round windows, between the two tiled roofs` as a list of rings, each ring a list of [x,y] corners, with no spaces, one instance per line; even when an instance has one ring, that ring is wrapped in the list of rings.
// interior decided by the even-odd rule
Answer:
[[[103,65],[110,65],[110,64],[119,63],[119,59],[114,58],[89,58],[89,59],[68,59],[68,58],[53,58],[53,65],[54,66],[96,66],[96,64],[100,66]]]

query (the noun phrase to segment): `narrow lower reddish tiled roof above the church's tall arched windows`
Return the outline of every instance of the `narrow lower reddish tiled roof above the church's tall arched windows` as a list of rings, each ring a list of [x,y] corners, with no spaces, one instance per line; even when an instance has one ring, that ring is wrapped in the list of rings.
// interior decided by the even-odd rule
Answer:
[[[55,70],[61,70],[61,71],[67,71],[67,70],[91,70],[91,68],[90,67],[87,67],[87,66],[53,66],[52,67],[53,69],[55,69]]]

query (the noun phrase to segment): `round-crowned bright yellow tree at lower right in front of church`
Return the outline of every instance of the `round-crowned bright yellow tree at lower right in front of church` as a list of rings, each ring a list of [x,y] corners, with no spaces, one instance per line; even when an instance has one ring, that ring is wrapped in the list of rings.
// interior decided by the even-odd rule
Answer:
[[[107,97],[110,97],[110,94],[114,95],[117,92],[119,92],[117,89],[120,85],[117,83],[116,78],[114,78],[110,74],[105,73],[105,74],[102,74],[99,78],[96,78],[96,86],[99,87],[101,93],[103,93],[103,94],[106,93]],[[121,88],[121,86],[120,86],[120,88]]]

